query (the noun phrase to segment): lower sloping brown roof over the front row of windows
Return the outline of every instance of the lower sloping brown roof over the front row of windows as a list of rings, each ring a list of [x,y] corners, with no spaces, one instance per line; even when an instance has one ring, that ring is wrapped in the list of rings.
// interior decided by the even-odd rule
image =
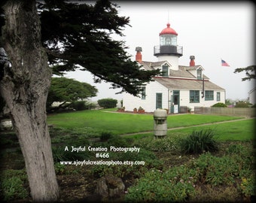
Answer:
[[[180,79],[172,77],[154,77],[158,83],[166,86],[168,89],[203,89],[203,80]],[[224,90],[221,86],[212,83],[209,80],[204,81],[205,90]]]

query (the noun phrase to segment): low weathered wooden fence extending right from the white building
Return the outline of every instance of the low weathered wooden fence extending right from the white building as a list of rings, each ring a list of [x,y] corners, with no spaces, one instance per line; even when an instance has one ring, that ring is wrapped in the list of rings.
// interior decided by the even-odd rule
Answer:
[[[225,116],[255,117],[255,108],[216,108],[195,107],[195,114],[218,114]]]

